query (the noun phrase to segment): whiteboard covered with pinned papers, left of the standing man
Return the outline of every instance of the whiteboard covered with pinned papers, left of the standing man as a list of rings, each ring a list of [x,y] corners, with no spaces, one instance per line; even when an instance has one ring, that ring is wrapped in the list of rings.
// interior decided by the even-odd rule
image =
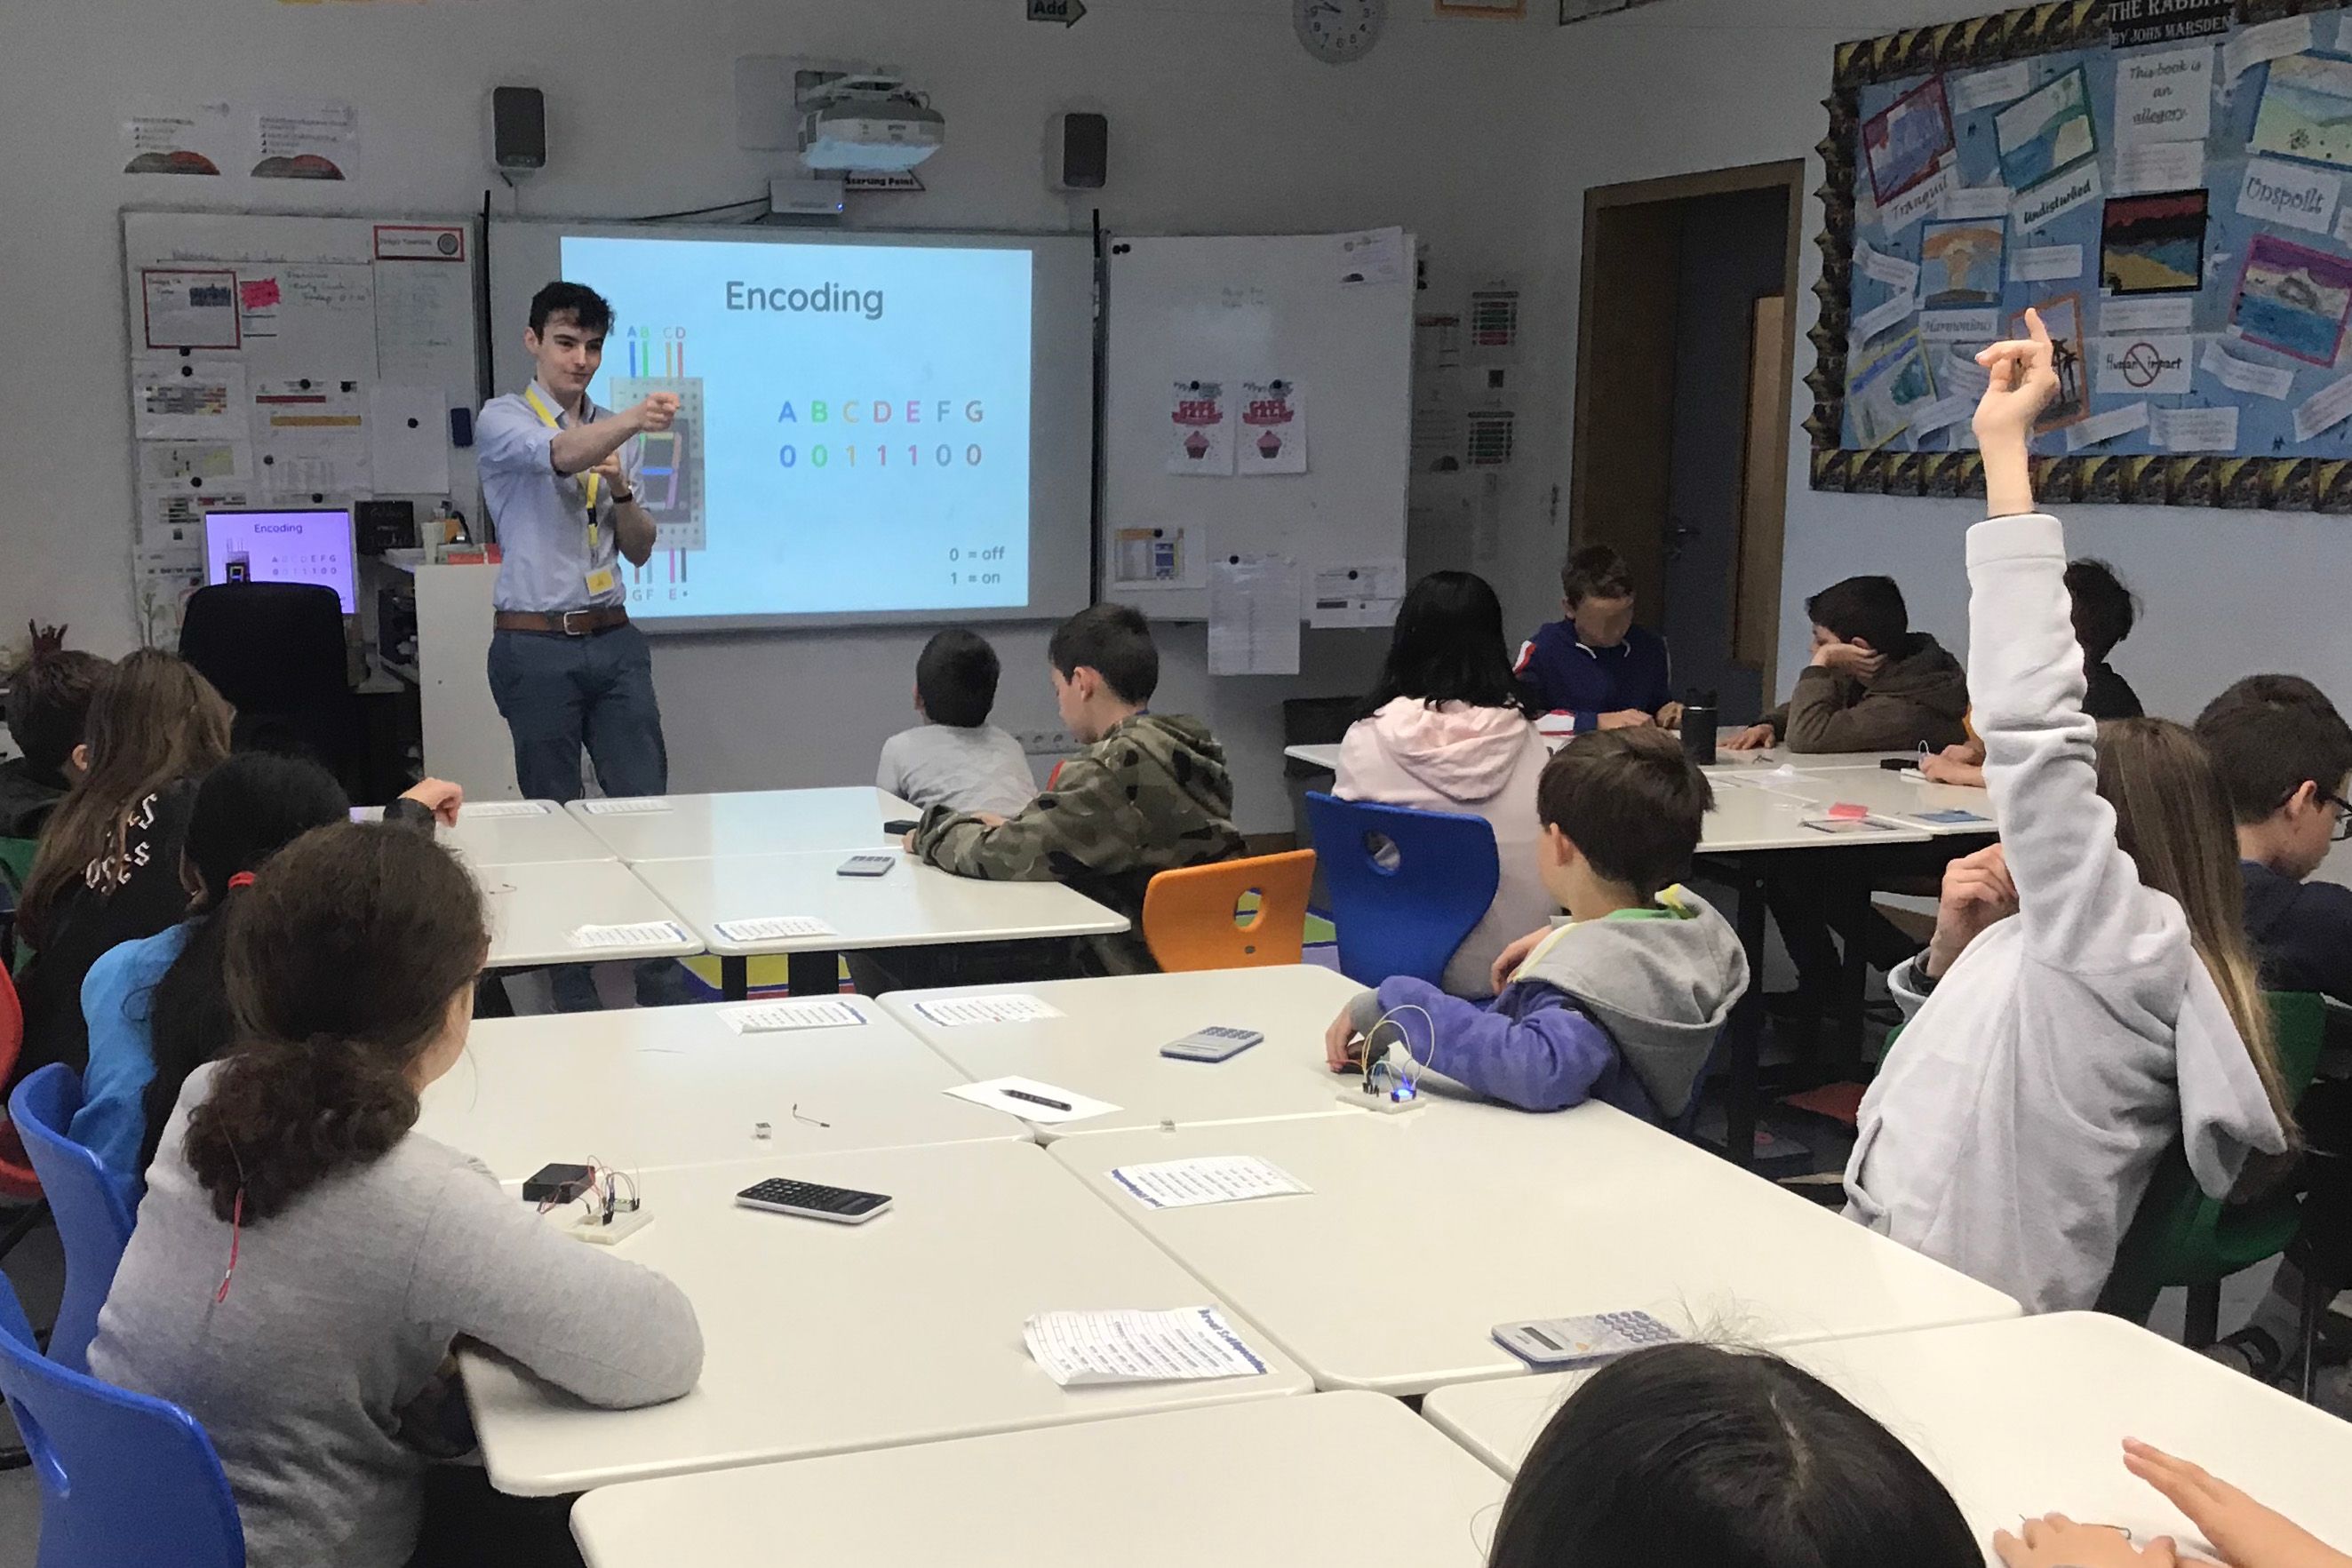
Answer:
[[[125,212],[132,597],[169,646],[207,505],[456,503],[477,400],[475,223]]]

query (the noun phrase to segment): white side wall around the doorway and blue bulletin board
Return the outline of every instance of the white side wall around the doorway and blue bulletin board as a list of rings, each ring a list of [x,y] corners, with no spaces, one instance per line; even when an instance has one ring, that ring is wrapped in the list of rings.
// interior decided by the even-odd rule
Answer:
[[[1992,9],[1990,0],[1663,0],[1545,35],[1559,82],[1538,202],[1552,219],[1538,244],[1552,308],[1573,322],[1585,186],[1806,158],[1813,190],[1832,47]],[[1792,425],[1811,411],[1802,376],[1813,350],[1802,334],[1816,315],[1820,202],[1806,200],[1804,223]],[[1573,381],[1573,360],[1562,360],[1559,378]],[[1552,404],[1566,407],[1564,397],[1566,386],[1555,388]],[[1566,428],[1555,449],[1566,449]],[[1964,649],[1962,534],[1980,503],[1816,494],[1806,451],[1792,428],[1780,668],[1802,663],[1804,597],[1856,571],[1898,578],[1915,623]],[[1541,590],[1550,541],[1515,538],[1529,555],[1512,578]],[[2082,505],[2067,515],[2067,545],[2112,559],[2143,595],[2147,616],[2114,663],[2152,712],[2194,717],[2253,670],[2296,670],[2352,701],[2352,520]]]

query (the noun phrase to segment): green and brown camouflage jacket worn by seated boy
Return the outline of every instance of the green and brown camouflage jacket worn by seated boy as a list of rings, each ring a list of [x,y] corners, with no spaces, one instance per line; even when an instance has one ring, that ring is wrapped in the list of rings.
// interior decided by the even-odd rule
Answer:
[[[1200,719],[1122,719],[1061,764],[1054,788],[1002,827],[931,806],[915,830],[915,853],[957,877],[1070,884],[1138,924],[1127,936],[1089,938],[1094,966],[1148,973],[1141,922],[1152,875],[1242,853],[1225,748]]]

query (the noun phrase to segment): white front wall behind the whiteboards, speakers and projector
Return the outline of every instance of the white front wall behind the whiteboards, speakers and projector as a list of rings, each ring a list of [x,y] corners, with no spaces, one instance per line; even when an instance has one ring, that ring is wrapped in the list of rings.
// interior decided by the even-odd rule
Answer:
[[[169,24],[162,14],[169,9]],[[931,89],[948,148],[931,190],[870,200],[873,228],[1084,228],[1091,202],[1044,186],[1047,118],[1110,115],[1105,223],[1136,233],[1312,233],[1404,223],[1442,289],[1524,261],[1522,195],[1470,174],[1524,143],[1536,26],[1439,24],[1397,5],[1390,38],[1329,68],[1291,40],[1287,0],[1103,0],[1075,28],[1018,0],[94,0],[9,5],[0,49],[9,313],[0,376],[0,625],[68,621],[132,639],[132,487],[122,393],[122,207],[254,205],[477,212],[494,82],[548,92],[550,169],[527,216],[637,216],[764,193],[781,155],[734,150],[736,54],[889,61]],[[1510,82],[1519,82],[1519,89]],[[362,174],[348,188],[256,190],[118,174],[136,101],[306,92],[350,99]],[[209,183],[209,181],[207,181]],[[510,212],[499,190],[499,212]],[[1432,296],[1435,299],[1435,296]],[[501,322],[499,331],[520,331]],[[1505,496],[1534,494],[1510,484]],[[920,635],[694,637],[659,644],[682,790],[844,783],[906,722]],[[1002,719],[1051,729],[1044,632],[1000,635]],[[1164,639],[1162,708],[1204,712],[1235,752],[1247,830],[1282,830],[1279,701],[1359,689],[1376,635],[1308,639],[1296,682],[1209,682],[1200,628]]]

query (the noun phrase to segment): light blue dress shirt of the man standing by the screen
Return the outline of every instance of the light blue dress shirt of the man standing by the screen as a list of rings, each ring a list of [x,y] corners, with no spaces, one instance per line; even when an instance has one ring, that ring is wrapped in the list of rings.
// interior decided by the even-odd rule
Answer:
[[[536,381],[532,386],[543,404],[557,409],[557,428],[569,430],[576,421],[562,411],[555,393]],[[588,423],[609,416],[612,409],[588,404]],[[482,505],[499,524],[499,548],[506,552],[492,597],[496,609],[555,614],[628,599],[621,583],[621,536],[612,527],[612,484],[597,484],[597,541],[590,557],[586,475],[555,473],[555,458],[548,451],[553,444],[555,428],[541,423],[520,393],[492,397],[482,404],[480,418],[473,421],[473,461],[482,473]],[[642,461],[642,442],[626,440],[621,444],[621,475],[628,480],[630,494],[637,494]],[[614,571],[614,585],[609,592],[590,595],[588,574],[600,567]]]

